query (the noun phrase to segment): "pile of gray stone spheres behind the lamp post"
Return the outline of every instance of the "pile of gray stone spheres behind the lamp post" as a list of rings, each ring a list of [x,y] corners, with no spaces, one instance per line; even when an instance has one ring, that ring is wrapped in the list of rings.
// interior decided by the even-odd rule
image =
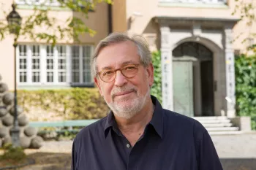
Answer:
[[[8,92],[8,87],[1,82],[0,74],[0,147],[12,143],[10,130],[13,127],[15,107],[14,95]],[[18,126],[20,129],[20,146],[23,148],[42,147],[43,139],[37,136],[37,129],[29,126],[29,120],[22,114],[23,109],[17,106]]]

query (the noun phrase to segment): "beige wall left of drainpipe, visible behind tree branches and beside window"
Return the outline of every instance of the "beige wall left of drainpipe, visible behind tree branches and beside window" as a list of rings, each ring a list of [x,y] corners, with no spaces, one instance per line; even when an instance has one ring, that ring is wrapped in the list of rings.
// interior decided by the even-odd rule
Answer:
[[[9,0],[0,0],[0,19],[4,20],[5,16],[3,10],[7,13],[10,12],[12,1]],[[18,12],[21,17],[26,18],[33,14],[31,9],[18,9]],[[55,16],[57,20],[57,24],[62,24],[64,26],[64,21],[74,16],[78,16],[70,11],[60,11],[56,10],[49,13],[50,16]],[[97,43],[103,39],[105,36],[108,35],[108,4],[101,3],[97,5],[95,12],[89,13],[89,18],[83,18],[86,26],[93,29],[97,32],[95,36],[89,36],[89,34],[81,35],[80,42],[83,44],[90,44],[90,45],[97,45]],[[37,28],[37,32],[42,31],[50,31],[47,28]],[[18,42],[23,43],[35,43],[31,39],[27,38],[26,36],[20,37]],[[39,41],[42,43],[42,41]],[[73,39],[67,38],[64,41],[59,43],[74,43]],[[3,41],[0,42],[0,74],[3,78],[3,82],[6,82],[9,86],[10,90],[14,89],[14,49],[13,49],[13,37],[7,36]]]

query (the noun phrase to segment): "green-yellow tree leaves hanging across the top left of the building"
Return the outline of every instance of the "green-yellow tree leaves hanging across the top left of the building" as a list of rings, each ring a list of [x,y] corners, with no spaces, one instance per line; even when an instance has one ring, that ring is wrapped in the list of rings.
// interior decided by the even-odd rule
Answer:
[[[56,45],[57,40],[63,40],[67,37],[79,42],[78,36],[81,34],[89,33],[91,36],[96,34],[94,30],[86,26],[81,18],[88,18],[89,12],[94,10],[98,3],[102,2],[112,3],[111,0],[41,0],[37,4],[34,2],[29,4],[33,7],[33,13],[23,17],[20,26],[18,24],[8,25],[7,20],[0,20],[0,41],[10,34],[11,29],[15,29],[18,30],[18,34],[15,34],[16,39],[20,36],[26,36],[35,42],[44,40],[53,46]],[[57,24],[58,18],[49,15],[49,12],[53,9],[53,3],[57,3],[59,10],[70,10],[79,15],[72,15],[63,23]],[[6,16],[7,13],[9,12],[4,11]],[[42,26],[47,29],[39,32],[35,31],[36,27]]]

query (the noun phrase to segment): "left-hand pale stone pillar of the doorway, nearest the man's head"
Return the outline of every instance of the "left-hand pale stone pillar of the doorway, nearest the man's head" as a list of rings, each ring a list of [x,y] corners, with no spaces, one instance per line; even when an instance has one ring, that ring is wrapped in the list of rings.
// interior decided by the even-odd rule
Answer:
[[[173,58],[170,42],[170,27],[162,24],[161,64],[162,64],[162,104],[163,108],[173,110]]]

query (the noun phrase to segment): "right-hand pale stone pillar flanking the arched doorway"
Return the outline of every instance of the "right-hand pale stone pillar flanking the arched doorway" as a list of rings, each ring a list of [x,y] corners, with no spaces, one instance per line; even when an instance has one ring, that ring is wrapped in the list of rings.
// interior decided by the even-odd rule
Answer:
[[[236,83],[235,61],[232,47],[232,26],[225,26],[225,67],[226,67],[226,97],[227,117],[236,117]]]

